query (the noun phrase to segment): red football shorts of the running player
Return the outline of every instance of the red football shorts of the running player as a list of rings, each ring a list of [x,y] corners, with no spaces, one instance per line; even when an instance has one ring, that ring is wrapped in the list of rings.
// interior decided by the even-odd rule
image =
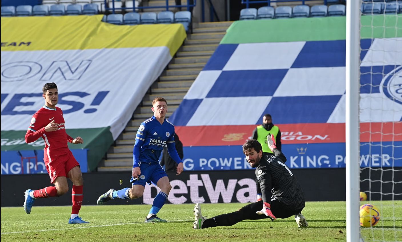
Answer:
[[[45,161],[47,173],[50,176],[50,183],[54,183],[59,176],[66,176],[68,172],[75,166],[80,164],[74,158],[72,152],[69,150],[67,154],[58,156],[55,160],[51,162]]]

